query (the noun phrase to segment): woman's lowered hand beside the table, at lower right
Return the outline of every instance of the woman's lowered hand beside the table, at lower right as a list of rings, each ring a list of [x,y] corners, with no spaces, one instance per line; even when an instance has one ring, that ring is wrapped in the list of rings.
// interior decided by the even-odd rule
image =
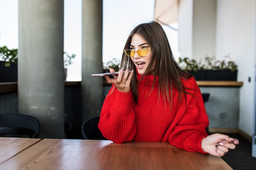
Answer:
[[[219,133],[209,135],[201,141],[201,147],[204,152],[219,157],[224,156],[229,149],[235,149],[237,144],[239,144],[238,139]]]

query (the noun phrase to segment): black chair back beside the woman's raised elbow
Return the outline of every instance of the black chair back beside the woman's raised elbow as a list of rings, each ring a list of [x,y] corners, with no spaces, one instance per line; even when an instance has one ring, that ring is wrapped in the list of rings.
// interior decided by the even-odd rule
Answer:
[[[99,131],[98,124],[99,116],[92,117],[83,122],[82,134],[84,139],[107,140],[102,136],[101,131]]]

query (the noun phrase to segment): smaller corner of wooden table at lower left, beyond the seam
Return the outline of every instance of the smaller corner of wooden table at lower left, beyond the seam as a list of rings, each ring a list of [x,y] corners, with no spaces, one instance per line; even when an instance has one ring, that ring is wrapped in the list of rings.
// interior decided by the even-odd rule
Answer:
[[[0,137],[0,163],[36,144],[40,139]]]

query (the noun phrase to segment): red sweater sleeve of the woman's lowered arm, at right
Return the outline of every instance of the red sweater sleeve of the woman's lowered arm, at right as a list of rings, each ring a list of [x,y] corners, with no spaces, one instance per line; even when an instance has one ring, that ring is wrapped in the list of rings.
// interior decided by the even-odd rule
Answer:
[[[201,141],[208,134],[205,128],[209,125],[209,119],[204,108],[204,102],[200,88],[195,80],[187,81],[185,85],[194,90],[188,90],[193,95],[186,95],[183,105],[178,109],[174,119],[173,132],[168,137],[171,145],[190,152],[206,153],[202,150]]]

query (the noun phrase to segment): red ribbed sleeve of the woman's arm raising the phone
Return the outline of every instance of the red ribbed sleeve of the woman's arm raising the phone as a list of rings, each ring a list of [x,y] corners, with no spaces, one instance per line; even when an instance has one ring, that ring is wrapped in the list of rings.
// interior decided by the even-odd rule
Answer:
[[[132,105],[132,92],[120,92],[112,85],[103,103],[98,124],[106,139],[117,144],[132,141],[137,130]]]

